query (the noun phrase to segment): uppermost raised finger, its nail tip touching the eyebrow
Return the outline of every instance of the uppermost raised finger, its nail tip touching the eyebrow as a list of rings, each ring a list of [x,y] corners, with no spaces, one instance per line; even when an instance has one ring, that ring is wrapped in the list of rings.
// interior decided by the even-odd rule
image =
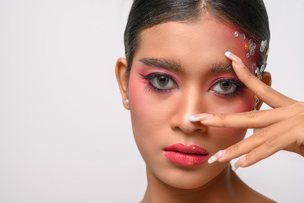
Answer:
[[[252,90],[263,102],[272,108],[278,108],[295,103],[296,101],[273,90],[270,86],[261,82],[246,68],[243,61],[236,55],[226,52],[225,55],[232,60],[232,67],[236,76],[250,90]]]

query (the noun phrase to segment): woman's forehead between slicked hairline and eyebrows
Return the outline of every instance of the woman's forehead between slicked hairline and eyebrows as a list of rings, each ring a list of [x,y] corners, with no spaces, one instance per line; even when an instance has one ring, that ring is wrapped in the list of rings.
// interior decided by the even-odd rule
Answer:
[[[202,60],[215,62],[217,58],[225,58],[224,53],[230,51],[251,66],[254,58],[247,58],[244,49],[248,39],[242,41],[235,37],[236,31],[241,34],[236,27],[207,14],[191,22],[170,21],[143,30],[136,52],[144,55],[140,57],[165,57],[182,63],[200,60],[202,63]]]

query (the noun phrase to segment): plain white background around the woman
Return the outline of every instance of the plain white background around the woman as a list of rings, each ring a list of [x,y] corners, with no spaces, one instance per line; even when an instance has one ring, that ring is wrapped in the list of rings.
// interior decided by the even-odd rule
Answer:
[[[115,77],[130,0],[0,0],[0,203],[136,203],[146,188]],[[272,87],[304,101],[304,1],[265,0]],[[264,108],[267,108],[264,106]],[[237,173],[303,203],[304,159]]]

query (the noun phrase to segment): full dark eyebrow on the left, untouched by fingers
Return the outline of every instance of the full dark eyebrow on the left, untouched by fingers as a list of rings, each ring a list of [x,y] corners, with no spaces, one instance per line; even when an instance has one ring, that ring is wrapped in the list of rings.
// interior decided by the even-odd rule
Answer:
[[[178,61],[172,61],[164,58],[140,58],[139,61],[146,66],[155,66],[174,72],[183,71],[182,65]]]

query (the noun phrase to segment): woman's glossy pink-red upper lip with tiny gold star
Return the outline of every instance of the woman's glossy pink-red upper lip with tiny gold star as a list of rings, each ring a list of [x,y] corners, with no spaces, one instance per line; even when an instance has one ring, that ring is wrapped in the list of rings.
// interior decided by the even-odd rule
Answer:
[[[170,146],[164,148],[164,150],[179,151],[179,152],[189,153],[189,154],[209,154],[209,152],[206,149],[201,148],[197,145],[185,145],[182,143],[170,145]]]

